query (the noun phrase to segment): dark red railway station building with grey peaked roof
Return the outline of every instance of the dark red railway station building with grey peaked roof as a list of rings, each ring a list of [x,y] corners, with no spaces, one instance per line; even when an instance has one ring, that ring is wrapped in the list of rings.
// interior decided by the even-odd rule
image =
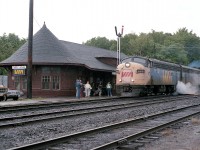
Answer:
[[[121,58],[126,57],[121,53]],[[59,40],[44,24],[33,36],[32,96],[75,96],[75,81],[87,81],[96,89],[107,82],[115,92],[117,52]],[[0,62],[8,71],[8,88],[27,94],[28,42]]]

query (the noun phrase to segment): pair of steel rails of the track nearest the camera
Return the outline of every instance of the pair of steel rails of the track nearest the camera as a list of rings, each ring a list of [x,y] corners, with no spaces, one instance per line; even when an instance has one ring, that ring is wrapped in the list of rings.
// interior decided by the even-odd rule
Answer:
[[[19,147],[13,147],[10,150],[43,149],[43,148],[51,147],[51,146],[54,146],[54,145],[59,145],[60,143],[63,143],[65,141],[67,141],[67,140],[70,140],[70,139],[73,139],[73,138],[76,139],[76,138],[79,138],[80,136],[85,136],[85,135],[88,135],[88,134],[91,134],[91,133],[92,134],[99,133],[99,132],[103,132],[105,130],[106,131],[110,131],[110,130],[112,130],[114,128],[119,128],[119,127],[122,127],[122,126],[126,126],[127,124],[130,124],[130,123],[141,122],[141,121],[144,121],[146,119],[155,118],[155,117],[158,117],[158,116],[163,116],[164,114],[172,114],[174,112],[179,112],[179,111],[186,110],[186,109],[192,108],[192,107],[198,107],[199,108],[199,105],[200,104],[194,105],[194,106],[189,106],[189,107],[184,107],[184,108],[179,108],[179,109],[172,109],[172,110],[164,111],[164,112],[161,112],[161,113],[151,114],[151,115],[146,116],[147,118],[138,117],[137,119],[129,119],[129,120],[126,120],[126,121],[123,121],[123,122],[120,122],[120,123],[106,125],[106,126],[98,127],[98,128],[95,128],[95,129],[90,129],[90,130],[83,131],[83,132],[77,132],[77,133],[74,133],[74,134],[61,136],[61,137],[58,137],[58,138],[53,138],[53,139],[49,139],[49,140],[45,140],[45,141],[41,141],[41,142],[27,144],[27,145],[23,145],[23,146],[19,146]],[[198,110],[194,110],[194,112],[190,113],[187,116],[179,116],[178,115],[178,119],[174,119],[172,121],[170,120],[167,123],[163,123],[162,125],[147,129],[147,130],[145,130],[143,132],[141,131],[141,132],[139,132],[137,134],[126,136],[124,138],[120,138],[118,140],[109,142],[107,144],[95,147],[95,148],[93,148],[93,150],[105,150],[105,149],[113,148],[113,147],[116,148],[117,146],[119,146],[119,144],[122,144],[122,145],[125,144],[126,141],[138,139],[140,137],[143,137],[144,135],[148,135],[150,133],[156,132],[156,131],[158,131],[160,129],[163,129],[165,127],[170,126],[171,124],[180,122],[183,119],[186,119],[186,118],[191,117],[193,115],[197,115],[199,113],[200,113],[200,111],[198,109]]]

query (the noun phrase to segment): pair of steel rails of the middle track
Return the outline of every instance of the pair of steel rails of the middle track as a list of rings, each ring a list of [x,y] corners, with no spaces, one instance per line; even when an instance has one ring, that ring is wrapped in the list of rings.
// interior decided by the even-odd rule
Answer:
[[[166,100],[166,102],[172,102],[176,101],[177,99],[174,97],[173,99]],[[140,101],[140,102],[131,102],[128,104],[117,104],[117,105],[108,105],[108,106],[100,106],[100,107],[91,107],[91,108],[84,108],[84,109],[78,109],[78,110],[66,110],[66,111],[60,111],[60,112],[48,112],[48,113],[43,113],[43,114],[33,114],[33,115],[23,115],[23,116],[16,116],[16,117],[8,117],[8,118],[1,118],[0,119],[0,129],[2,128],[8,128],[8,127],[13,127],[13,126],[21,126],[25,124],[30,124],[30,123],[35,123],[35,122],[43,122],[43,121],[48,121],[52,119],[62,119],[66,117],[76,117],[80,115],[88,115],[92,113],[101,113],[101,112],[108,112],[108,111],[114,111],[114,110],[120,110],[120,109],[125,109],[125,108],[134,108],[134,107],[142,107],[146,105],[152,105],[152,104],[159,104],[159,103],[164,103],[165,99],[162,100],[147,100],[147,101]],[[98,110],[99,109],[99,110]],[[84,112],[87,111],[87,112]],[[69,114],[72,113],[73,114]],[[65,113],[65,114],[63,114]],[[56,115],[59,114],[59,116],[50,116],[46,117],[47,115]],[[32,117],[41,117],[45,116],[45,118],[36,118],[32,120],[26,120],[26,121],[17,121],[14,122],[14,120],[19,120],[19,119],[27,119],[27,118],[32,118]],[[12,121],[11,123],[2,123],[3,121]]]

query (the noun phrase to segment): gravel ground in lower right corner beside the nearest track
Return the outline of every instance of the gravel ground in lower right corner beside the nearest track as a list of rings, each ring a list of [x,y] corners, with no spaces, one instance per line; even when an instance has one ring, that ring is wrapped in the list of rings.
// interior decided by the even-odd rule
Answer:
[[[200,150],[200,118],[193,118],[180,129],[166,129],[158,140],[138,150]]]

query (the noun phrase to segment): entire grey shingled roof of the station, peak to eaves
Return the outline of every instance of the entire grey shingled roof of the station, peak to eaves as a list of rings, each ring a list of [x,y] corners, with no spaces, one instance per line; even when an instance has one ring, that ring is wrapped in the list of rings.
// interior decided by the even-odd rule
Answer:
[[[113,66],[104,64],[97,58],[116,59],[116,55],[114,51],[58,40],[45,24],[33,36],[33,65],[82,65],[89,69],[112,71],[115,70]],[[28,42],[0,65],[24,65],[28,62],[27,57]],[[121,58],[124,57],[126,55],[121,54]]]

